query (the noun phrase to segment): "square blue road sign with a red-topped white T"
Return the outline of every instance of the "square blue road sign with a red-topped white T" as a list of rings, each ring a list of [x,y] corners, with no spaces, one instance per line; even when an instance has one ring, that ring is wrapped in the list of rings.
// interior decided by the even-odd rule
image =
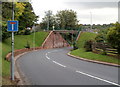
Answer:
[[[8,21],[8,31],[18,31],[18,21]]]

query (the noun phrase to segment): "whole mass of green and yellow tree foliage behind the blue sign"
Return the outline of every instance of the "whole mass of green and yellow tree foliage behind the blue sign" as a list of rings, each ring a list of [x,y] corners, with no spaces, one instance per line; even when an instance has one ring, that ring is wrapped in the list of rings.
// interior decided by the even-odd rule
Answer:
[[[15,20],[19,21],[19,31],[15,34],[24,34],[27,27],[32,27],[37,21],[38,16],[33,12],[32,5],[29,2],[2,2],[2,39],[11,36],[7,32],[7,21],[12,20],[12,9],[14,6]]]

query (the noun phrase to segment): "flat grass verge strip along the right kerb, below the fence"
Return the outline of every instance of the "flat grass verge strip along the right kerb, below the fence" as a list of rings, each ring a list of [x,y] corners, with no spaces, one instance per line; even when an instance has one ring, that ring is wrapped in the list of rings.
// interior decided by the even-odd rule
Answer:
[[[97,61],[103,61],[103,62],[109,62],[115,64],[118,64],[118,62],[120,62],[120,60],[118,60],[117,58],[105,56],[101,54],[95,54],[93,52],[86,52],[83,48],[74,50],[71,52],[71,54],[90,60],[97,60]]]

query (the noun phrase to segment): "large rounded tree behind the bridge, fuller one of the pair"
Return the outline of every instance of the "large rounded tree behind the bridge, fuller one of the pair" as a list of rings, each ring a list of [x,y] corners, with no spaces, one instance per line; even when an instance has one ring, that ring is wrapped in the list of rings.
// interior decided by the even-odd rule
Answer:
[[[62,10],[56,14],[57,21],[61,29],[75,29],[78,24],[77,13],[73,10]]]

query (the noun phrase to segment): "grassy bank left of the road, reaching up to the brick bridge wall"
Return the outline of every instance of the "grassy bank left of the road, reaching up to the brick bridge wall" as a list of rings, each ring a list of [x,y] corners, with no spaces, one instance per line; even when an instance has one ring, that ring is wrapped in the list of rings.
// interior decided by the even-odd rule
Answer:
[[[42,45],[44,39],[47,37],[47,32],[36,32],[35,33],[35,47]],[[15,36],[15,49],[25,48],[24,46],[28,43],[33,47],[33,34],[31,35],[16,35]],[[2,42],[2,76],[10,75],[10,62],[4,60],[5,56],[11,52],[11,38],[6,39]]]

